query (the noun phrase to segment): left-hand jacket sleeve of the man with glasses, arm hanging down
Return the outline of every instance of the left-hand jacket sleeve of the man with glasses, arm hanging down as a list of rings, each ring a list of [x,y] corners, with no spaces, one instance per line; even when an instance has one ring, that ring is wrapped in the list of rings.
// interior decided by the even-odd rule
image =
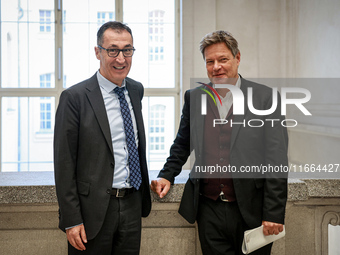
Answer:
[[[83,222],[77,192],[79,105],[69,90],[60,96],[54,129],[54,174],[59,203],[59,228]]]

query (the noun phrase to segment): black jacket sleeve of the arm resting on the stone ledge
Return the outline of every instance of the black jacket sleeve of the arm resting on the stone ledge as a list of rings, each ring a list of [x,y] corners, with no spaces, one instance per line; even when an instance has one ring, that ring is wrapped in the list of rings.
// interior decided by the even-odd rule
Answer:
[[[184,95],[180,126],[170,148],[170,156],[167,158],[158,177],[174,183],[175,177],[182,171],[182,166],[187,161],[190,152],[190,90],[188,90]]]

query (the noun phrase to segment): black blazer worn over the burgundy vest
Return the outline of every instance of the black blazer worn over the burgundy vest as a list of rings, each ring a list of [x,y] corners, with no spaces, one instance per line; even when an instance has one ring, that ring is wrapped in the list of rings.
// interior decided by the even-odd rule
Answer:
[[[247,106],[248,88],[253,88],[253,104],[258,110],[266,110],[272,105],[272,89],[267,86],[247,81],[241,77],[241,90],[245,98],[244,115],[234,115],[234,123],[246,121],[243,125],[233,125],[230,146],[230,164],[240,169],[241,166],[288,166],[287,148],[288,135],[280,122],[280,100],[276,111],[269,116],[257,116],[251,113]],[[194,174],[195,165],[202,166],[204,116],[201,115],[200,89],[188,90],[185,93],[185,103],[180,127],[170,149],[170,156],[159,177],[174,182],[191,151],[195,151],[195,164],[185,185],[179,213],[190,223],[196,220],[200,176]],[[278,96],[279,97],[279,96]],[[209,98],[209,97],[208,97]],[[263,127],[251,128],[247,125],[250,119],[279,119],[274,127],[272,122],[264,121]],[[255,123],[252,123],[255,125]],[[258,123],[256,123],[258,125]],[[278,176],[252,176],[237,178],[233,174],[236,200],[243,219],[249,228],[261,225],[262,220],[284,223],[287,200],[287,174]],[[244,176],[243,176],[244,177]],[[260,178],[258,178],[260,177]],[[282,178],[283,177],[283,178]]]

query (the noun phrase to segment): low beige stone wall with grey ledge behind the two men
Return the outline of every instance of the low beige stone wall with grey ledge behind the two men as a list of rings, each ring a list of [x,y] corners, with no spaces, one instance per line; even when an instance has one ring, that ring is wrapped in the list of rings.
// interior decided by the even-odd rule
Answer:
[[[175,184],[163,199],[152,194],[142,255],[201,254],[196,225],[177,213],[183,188]],[[274,243],[272,254],[328,254],[328,226],[340,224],[340,180],[290,179],[288,192],[286,237]],[[52,172],[0,173],[0,254],[67,254],[57,210]]]

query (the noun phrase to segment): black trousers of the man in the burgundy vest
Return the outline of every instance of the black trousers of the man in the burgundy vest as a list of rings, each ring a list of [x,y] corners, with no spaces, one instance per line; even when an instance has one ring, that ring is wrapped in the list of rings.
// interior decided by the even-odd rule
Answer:
[[[243,255],[244,222],[237,202],[223,202],[200,196],[198,233],[204,255]],[[272,244],[250,254],[269,255]]]

